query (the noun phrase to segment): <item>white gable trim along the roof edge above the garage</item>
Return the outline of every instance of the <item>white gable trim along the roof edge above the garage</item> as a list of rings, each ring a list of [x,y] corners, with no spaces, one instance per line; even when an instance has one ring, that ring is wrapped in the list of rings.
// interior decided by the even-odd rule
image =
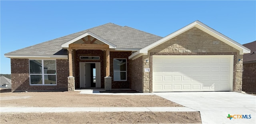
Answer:
[[[158,45],[160,45],[160,44],[162,44],[162,43],[164,43],[164,42],[166,42],[166,41],[168,41],[168,40],[170,40],[170,39],[172,39],[176,36],[178,36],[179,34],[182,34],[182,33],[186,32],[187,30],[189,30],[193,27],[199,28],[200,30],[212,35],[213,37],[221,40],[222,42],[236,48],[237,50],[240,51],[240,55],[242,55],[244,53],[250,53],[250,49],[242,46],[241,44],[235,42],[234,40],[228,38],[227,36],[224,36],[223,34],[217,32],[216,30],[214,30],[214,29],[210,28],[209,26],[206,26],[202,22],[199,22],[198,20],[196,20],[195,22],[192,22],[191,24],[177,30],[176,32],[173,32],[172,34],[169,34],[168,36],[165,36],[164,38],[162,38],[162,39],[160,39],[160,40],[158,40],[158,41],[140,49],[139,51],[137,51],[134,54],[132,54],[131,56],[129,56],[129,59],[132,59],[134,56],[136,56],[138,54],[140,54],[140,56],[142,56],[141,53],[148,53],[148,50],[150,50],[150,49],[152,49],[152,48],[154,48],[154,47],[156,47],[156,46],[158,46]]]

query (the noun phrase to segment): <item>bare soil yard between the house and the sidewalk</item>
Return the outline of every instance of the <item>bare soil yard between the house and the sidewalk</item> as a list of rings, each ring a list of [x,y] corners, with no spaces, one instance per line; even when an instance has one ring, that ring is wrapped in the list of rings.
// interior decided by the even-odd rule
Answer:
[[[80,92],[0,93],[1,107],[182,107],[156,95],[93,95]]]

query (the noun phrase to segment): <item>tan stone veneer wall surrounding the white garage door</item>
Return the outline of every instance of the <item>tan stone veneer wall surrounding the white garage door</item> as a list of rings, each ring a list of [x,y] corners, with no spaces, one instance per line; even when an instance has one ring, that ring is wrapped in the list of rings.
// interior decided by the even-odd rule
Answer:
[[[143,72],[143,92],[152,92],[153,55],[234,55],[233,90],[242,90],[243,56],[239,55],[239,51],[235,48],[196,27],[152,48],[148,51],[148,55],[143,56],[144,68],[151,68],[150,73]]]

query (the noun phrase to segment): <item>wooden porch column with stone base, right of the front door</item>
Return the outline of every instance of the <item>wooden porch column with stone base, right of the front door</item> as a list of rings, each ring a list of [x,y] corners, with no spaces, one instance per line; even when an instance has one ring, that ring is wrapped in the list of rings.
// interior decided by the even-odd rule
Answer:
[[[104,78],[105,90],[112,90],[112,78],[110,77],[110,55],[106,49],[106,77]]]

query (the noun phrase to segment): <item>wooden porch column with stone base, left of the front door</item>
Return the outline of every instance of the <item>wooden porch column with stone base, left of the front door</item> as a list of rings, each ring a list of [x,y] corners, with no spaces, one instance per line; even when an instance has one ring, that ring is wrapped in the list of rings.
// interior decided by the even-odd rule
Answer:
[[[72,48],[68,48],[68,63],[69,63],[68,91],[74,91],[75,77],[73,77]]]

